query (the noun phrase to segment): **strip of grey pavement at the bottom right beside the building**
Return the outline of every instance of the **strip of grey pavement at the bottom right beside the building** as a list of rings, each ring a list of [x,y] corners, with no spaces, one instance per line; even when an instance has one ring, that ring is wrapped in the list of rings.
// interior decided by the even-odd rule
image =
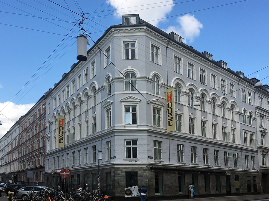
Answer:
[[[263,195],[241,195],[241,196],[225,196],[225,197],[204,197],[204,198],[192,198],[192,199],[178,199],[173,201],[253,201],[269,199],[269,194]],[[163,200],[171,201],[171,200]]]

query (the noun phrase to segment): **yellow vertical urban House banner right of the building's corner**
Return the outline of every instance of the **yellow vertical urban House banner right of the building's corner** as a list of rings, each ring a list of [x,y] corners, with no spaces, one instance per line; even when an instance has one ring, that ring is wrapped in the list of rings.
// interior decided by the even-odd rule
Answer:
[[[174,88],[166,90],[167,132],[175,131]]]

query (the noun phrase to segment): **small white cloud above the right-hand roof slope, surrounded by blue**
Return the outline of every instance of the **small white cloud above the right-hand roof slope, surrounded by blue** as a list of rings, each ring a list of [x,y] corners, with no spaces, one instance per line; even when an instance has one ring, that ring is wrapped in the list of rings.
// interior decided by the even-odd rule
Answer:
[[[169,26],[164,31],[167,33],[175,32],[186,40],[189,40],[189,43],[194,41],[194,38],[200,35],[200,29],[203,29],[203,24],[194,17],[194,15],[183,15],[177,18],[178,26]]]

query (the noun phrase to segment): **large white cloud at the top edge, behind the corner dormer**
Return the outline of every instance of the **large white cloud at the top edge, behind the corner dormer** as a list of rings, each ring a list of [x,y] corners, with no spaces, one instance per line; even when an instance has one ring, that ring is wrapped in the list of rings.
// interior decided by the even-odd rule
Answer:
[[[107,3],[111,4],[112,7],[116,8],[115,13],[117,13],[118,18],[120,18],[123,14],[138,13],[141,19],[149,22],[154,26],[157,26],[160,21],[166,21],[166,19],[156,19],[165,18],[166,14],[168,14],[174,6],[173,1],[163,2],[163,0],[108,0]]]

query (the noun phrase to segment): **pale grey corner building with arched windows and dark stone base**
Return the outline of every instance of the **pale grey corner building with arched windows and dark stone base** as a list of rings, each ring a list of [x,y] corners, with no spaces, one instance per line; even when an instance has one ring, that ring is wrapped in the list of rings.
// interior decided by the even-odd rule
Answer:
[[[266,137],[268,121],[260,126],[254,92],[264,102],[269,96],[254,88],[257,79],[138,14],[123,15],[96,44],[45,99],[49,187],[62,182],[52,173],[68,168],[68,191],[83,183],[97,189],[102,151],[100,185],[118,199],[135,185],[145,185],[151,200],[187,197],[191,183],[196,197],[262,192],[268,178],[259,169],[268,171],[268,148],[259,132]],[[171,87],[175,131],[168,133],[164,91]],[[260,110],[268,112],[265,105]],[[65,147],[57,147],[58,116],[65,116]]]

